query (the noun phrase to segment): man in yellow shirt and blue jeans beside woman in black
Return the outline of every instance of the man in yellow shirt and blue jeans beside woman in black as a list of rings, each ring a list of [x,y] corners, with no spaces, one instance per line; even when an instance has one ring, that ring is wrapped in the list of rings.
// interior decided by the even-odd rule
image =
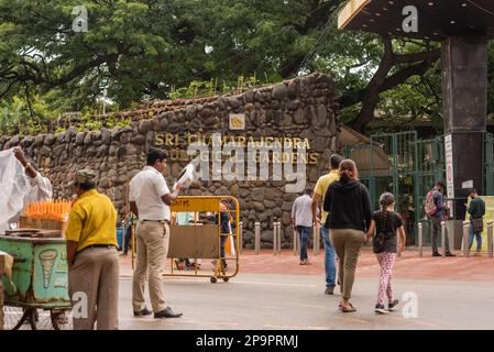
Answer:
[[[321,219],[318,218],[317,209],[320,202],[325,202],[325,196],[328,191],[329,186],[338,179],[340,176],[338,174],[338,169],[340,168],[340,163],[342,157],[338,154],[331,155],[329,163],[331,168],[329,174],[321,176],[316,187],[314,188],[312,195],[312,220],[314,223],[321,224],[321,237],[325,242],[325,271],[326,271],[326,295],[332,295],[334,290],[334,279],[337,276],[337,267],[334,265],[334,248],[331,244],[331,240],[329,238],[329,230],[326,228],[326,219],[328,218],[328,212],[321,212]]]

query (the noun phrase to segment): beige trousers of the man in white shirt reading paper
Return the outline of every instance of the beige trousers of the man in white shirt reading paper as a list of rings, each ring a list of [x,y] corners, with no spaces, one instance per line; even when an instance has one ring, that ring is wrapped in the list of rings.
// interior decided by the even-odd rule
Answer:
[[[136,229],[135,271],[132,279],[134,311],[145,308],[144,287],[149,277],[151,306],[154,312],[166,308],[162,276],[168,253],[169,227],[166,223],[140,221]]]

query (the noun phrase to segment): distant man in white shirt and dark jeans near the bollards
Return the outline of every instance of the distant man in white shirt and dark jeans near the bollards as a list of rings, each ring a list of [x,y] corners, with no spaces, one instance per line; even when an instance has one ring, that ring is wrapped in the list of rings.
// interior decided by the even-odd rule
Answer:
[[[305,194],[295,199],[292,207],[292,224],[297,229],[300,239],[300,265],[309,264],[307,245],[312,230],[312,190],[307,188]]]

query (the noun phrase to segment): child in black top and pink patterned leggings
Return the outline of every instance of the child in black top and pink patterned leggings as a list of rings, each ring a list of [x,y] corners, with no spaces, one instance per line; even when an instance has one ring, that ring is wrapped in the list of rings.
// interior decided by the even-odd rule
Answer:
[[[405,228],[402,217],[394,211],[395,197],[385,193],[380,198],[381,210],[372,215],[371,226],[367,232],[367,241],[373,239],[373,250],[381,266],[380,286],[377,290],[377,302],[374,311],[376,314],[387,314],[398,305],[397,299],[393,299],[392,275],[393,264],[397,251],[397,232],[400,238],[400,251],[405,251]],[[387,296],[387,309],[384,307],[384,299]]]

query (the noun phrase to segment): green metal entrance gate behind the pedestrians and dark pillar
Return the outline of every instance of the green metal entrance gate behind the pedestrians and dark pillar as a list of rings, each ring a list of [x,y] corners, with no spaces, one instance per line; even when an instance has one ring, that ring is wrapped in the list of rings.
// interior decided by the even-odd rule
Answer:
[[[484,195],[494,196],[494,136],[484,133]],[[370,144],[343,150],[355,161],[360,179],[369,188],[373,209],[378,209],[381,194],[396,197],[396,211],[404,219],[407,244],[418,241],[418,223],[424,227],[424,243],[429,239],[429,220],[424,211],[427,193],[446,179],[444,136],[418,140],[417,132],[376,134]]]

